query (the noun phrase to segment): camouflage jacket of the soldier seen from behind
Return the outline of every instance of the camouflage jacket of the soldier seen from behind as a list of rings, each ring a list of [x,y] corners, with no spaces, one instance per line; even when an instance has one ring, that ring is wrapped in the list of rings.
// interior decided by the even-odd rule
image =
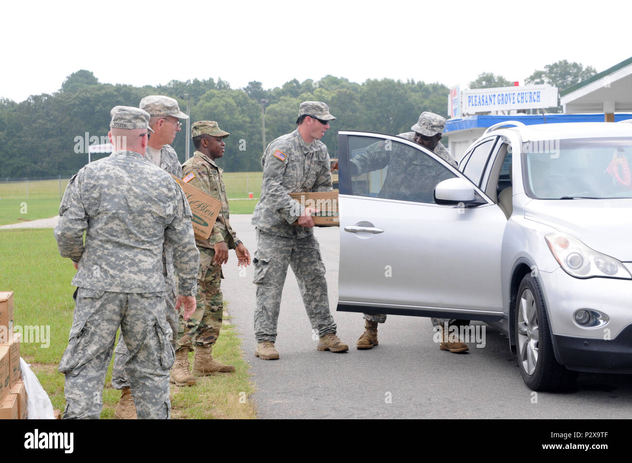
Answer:
[[[75,286],[162,292],[162,248],[173,246],[179,294],[195,296],[199,253],[191,210],[174,179],[139,153],[118,151],[70,179],[55,227],[59,253],[79,263]],[[86,232],[85,245],[83,232]]]

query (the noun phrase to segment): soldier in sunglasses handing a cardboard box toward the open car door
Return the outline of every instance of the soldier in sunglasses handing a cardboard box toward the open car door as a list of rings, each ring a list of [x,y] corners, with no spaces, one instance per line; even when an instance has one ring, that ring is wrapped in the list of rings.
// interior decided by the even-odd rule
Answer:
[[[253,282],[257,285],[255,356],[260,359],[279,358],[274,342],[288,265],[298,280],[312,328],[320,336],[317,349],[331,352],[349,349],[336,336],[336,323],[329,312],[325,266],[312,229],[311,215],[315,210],[305,208],[289,196],[289,193],[331,191],[329,153],[320,138],[329,129],[329,121],[335,119],[322,102],[301,103],[296,120],[298,128],[272,141],[261,160],[264,167],[261,198],[252,217],[257,235],[253,260]]]

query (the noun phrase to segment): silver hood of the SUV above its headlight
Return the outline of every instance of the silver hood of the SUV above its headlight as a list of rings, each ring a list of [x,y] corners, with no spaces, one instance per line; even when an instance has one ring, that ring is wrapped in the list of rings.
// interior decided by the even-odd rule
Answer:
[[[632,199],[532,200],[525,218],[568,232],[593,250],[632,262]]]

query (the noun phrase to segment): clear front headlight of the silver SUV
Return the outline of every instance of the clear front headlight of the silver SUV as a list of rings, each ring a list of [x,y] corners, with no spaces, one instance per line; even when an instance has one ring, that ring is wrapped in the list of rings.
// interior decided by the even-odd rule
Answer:
[[[632,280],[623,263],[598,253],[567,233],[549,233],[544,237],[557,263],[575,278],[610,277]]]

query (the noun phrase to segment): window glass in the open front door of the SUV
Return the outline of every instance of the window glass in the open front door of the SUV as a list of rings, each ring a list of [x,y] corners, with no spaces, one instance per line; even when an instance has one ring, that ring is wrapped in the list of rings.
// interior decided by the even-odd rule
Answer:
[[[367,136],[347,140],[352,195],[434,203],[437,183],[456,177],[420,148]]]

